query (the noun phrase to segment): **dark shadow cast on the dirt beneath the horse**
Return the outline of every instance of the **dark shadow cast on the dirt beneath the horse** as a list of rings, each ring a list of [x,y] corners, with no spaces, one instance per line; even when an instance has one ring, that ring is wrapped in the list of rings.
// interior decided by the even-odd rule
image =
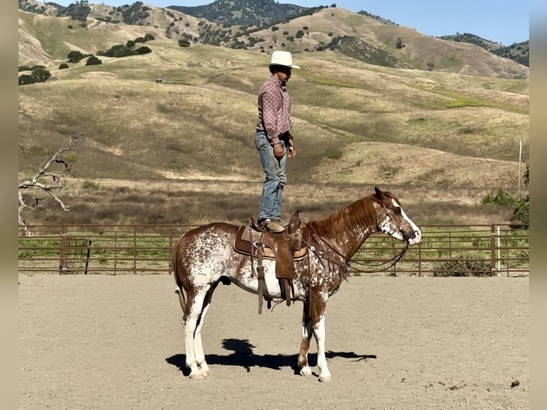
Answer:
[[[294,374],[298,374],[298,354],[255,354],[253,349],[256,347],[248,339],[224,339],[222,347],[233,353],[206,354],[207,364],[219,364],[221,366],[240,366],[248,373],[252,367],[265,367],[267,369],[281,370],[289,367]],[[327,359],[333,357],[343,357],[344,359],[353,359],[352,361],[361,361],[366,359],[376,359],[376,354],[356,354],[353,351],[326,351]],[[177,366],[184,376],[189,376],[190,370],[186,367],[186,354],[175,354],[165,359],[167,363]],[[308,353],[308,363],[310,366],[317,365],[317,353]]]

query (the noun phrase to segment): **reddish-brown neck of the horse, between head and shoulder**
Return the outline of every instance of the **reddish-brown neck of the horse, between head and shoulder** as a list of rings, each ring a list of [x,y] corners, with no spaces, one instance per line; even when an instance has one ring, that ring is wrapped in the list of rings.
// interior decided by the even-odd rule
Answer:
[[[367,196],[336,214],[309,224],[318,236],[350,259],[368,236],[377,231],[376,206],[378,204]]]

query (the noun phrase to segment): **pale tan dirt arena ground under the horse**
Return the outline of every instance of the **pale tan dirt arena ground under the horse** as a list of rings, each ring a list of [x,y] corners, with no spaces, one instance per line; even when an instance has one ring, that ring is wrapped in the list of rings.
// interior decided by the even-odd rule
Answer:
[[[529,408],[527,277],[349,278],[328,305],[326,384],[296,374],[301,304],[259,315],[219,286],[212,374],[191,380],[171,276],[19,281],[19,409]]]

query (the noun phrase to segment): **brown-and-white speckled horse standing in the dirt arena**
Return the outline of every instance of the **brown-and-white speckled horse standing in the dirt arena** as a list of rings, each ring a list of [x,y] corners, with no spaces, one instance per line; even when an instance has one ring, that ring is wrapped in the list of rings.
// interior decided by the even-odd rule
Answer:
[[[421,241],[421,230],[403,211],[396,196],[376,187],[373,194],[303,226],[308,231],[304,239],[308,252],[305,258],[294,261],[292,296],[293,301],[303,302],[299,374],[312,374],[308,349],[313,335],[317,344],[318,379],[329,381],[331,372],[325,356],[326,306],[329,296],[346,280],[351,257],[374,232],[404,241],[408,247]],[[259,292],[252,257],[234,249],[238,229],[239,226],[233,224],[213,222],[186,232],[174,246],[176,293],[183,311],[186,366],[192,379],[203,379],[210,374],[201,342],[201,328],[216,286],[233,283],[253,294]],[[275,260],[263,263],[269,295],[282,299]]]

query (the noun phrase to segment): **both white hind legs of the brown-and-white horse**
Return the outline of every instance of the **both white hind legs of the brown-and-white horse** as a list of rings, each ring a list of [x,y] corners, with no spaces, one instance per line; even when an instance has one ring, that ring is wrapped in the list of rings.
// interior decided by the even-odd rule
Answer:
[[[196,360],[196,353],[199,359],[205,361],[203,354],[203,346],[201,346],[201,336],[197,331],[200,316],[204,310],[204,301],[206,299],[207,291],[210,286],[206,286],[206,289],[196,289],[194,292],[187,293],[186,311],[182,319],[184,326],[184,345],[186,347],[186,366],[190,369],[191,379],[201,379],[206,376],[206,372],[202,371],[198,361]],[[200,326],[201,329],[201,326]],[[199,338],[196,339],[196,334]],[[196,343],[197,342],[197,343]],[[197,346],[196,346],[197,345]],[[196,352],[197,347],[197,352]],[[201,355],[200,355],[201,351]],[[202,358],[203,356],[203,358]]]

